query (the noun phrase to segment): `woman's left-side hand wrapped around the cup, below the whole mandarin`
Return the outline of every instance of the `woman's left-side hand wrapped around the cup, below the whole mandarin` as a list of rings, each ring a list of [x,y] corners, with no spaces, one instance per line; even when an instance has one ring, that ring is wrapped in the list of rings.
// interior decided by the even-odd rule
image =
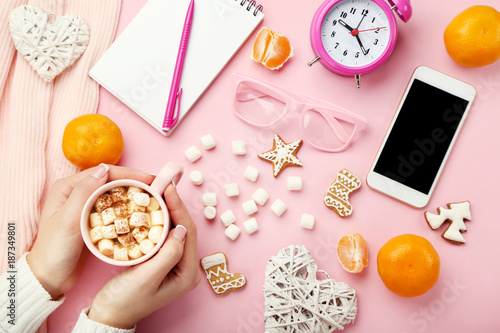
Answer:
[[[83,268],[80,215],[89,196],[108,180],[136,179],[151,184],[147,173],[101,164],[54,183],[40,218],[28,264],[53,300],[70,290]]]

